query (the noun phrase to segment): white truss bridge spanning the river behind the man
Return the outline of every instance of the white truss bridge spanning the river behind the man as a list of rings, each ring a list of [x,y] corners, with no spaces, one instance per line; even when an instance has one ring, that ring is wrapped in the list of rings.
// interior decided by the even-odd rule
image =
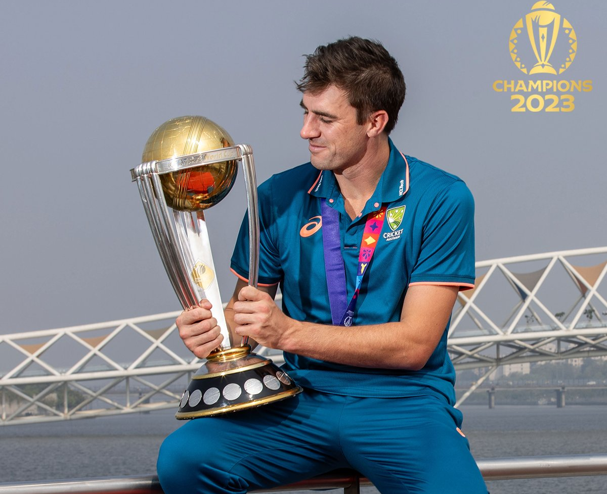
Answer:
[[[607,247],[478,262],[449,335],[456,370],[480,372],[458,404],[500,365],[607,355],[606,273]],[[0,425],[176,410],[201,364],[178,313],[0,335]]]

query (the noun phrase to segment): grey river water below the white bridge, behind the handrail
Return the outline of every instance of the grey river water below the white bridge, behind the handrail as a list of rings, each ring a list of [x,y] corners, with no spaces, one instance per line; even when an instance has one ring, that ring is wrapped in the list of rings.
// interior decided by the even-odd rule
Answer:
[[[607,406],[462,410],[475,458],[607,453]],[[155,472],[162,439],[179,425],[174,412],[160,411],[0,427],[0,482],[149,475]],[[492,494],[604,494],[607,476],[492,481],[487,486]],[[368,487],[362,492],[378,491]]]

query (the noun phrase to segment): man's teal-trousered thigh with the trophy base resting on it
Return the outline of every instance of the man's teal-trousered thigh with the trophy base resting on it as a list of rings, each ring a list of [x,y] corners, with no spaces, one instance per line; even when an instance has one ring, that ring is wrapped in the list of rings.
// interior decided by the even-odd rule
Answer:
[[[167,494],[246,492],[342,467],[337,424],[345,399],[306,390],[257,409],[191,420],[161,446],[161,486]]]

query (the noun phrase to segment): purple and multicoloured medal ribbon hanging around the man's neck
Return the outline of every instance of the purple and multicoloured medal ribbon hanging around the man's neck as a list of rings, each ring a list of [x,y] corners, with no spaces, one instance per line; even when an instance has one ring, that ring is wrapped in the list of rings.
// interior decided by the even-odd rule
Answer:
[[[331,319],[337,326],[351,326],[354,317],[354,307],[361,290],[362,278],[367,267],[379,235],[384,226],[385,206],[379,211],[367,215],[367,223],[362,233],[361,249],[358,254],[358,270],[356,272],[356,287],[354,295],[348,304],[347,287],[345,282],[344,257],[341,253],[341,235],[339,233],[339,212],[327,205],[326,199],[320,202],[322,212],[322,247],[325,255],[325,271],[327,272],[327,289],[329,304],[331,305]],[[341,316],[340,316],[341,315]]]

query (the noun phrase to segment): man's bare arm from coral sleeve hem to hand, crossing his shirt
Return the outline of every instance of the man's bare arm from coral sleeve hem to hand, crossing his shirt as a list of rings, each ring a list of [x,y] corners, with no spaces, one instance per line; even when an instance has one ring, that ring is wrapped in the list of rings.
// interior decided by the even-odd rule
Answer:
[[[415,285],[401,320],[353,327],[295,321],[266,293],[246,287],[234,301],[234,333],[297,355],[385,369],[421,369],[447,327],[458,287]]]

